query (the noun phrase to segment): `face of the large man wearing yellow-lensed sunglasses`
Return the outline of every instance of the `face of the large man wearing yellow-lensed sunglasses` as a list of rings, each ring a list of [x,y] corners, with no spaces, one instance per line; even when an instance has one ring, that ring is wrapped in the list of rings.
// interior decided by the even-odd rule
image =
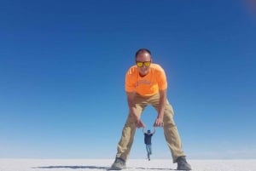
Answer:
[[[143,52],[137,55],[137,68],[140,72],[141,76],[145,76],[148,74],[150,63],[151,63],[151,55],[148,54],[147,52]],[[143,62],[143,66],[139,66],[139,63]],[[147,64],[149,62],[149,65]]]

